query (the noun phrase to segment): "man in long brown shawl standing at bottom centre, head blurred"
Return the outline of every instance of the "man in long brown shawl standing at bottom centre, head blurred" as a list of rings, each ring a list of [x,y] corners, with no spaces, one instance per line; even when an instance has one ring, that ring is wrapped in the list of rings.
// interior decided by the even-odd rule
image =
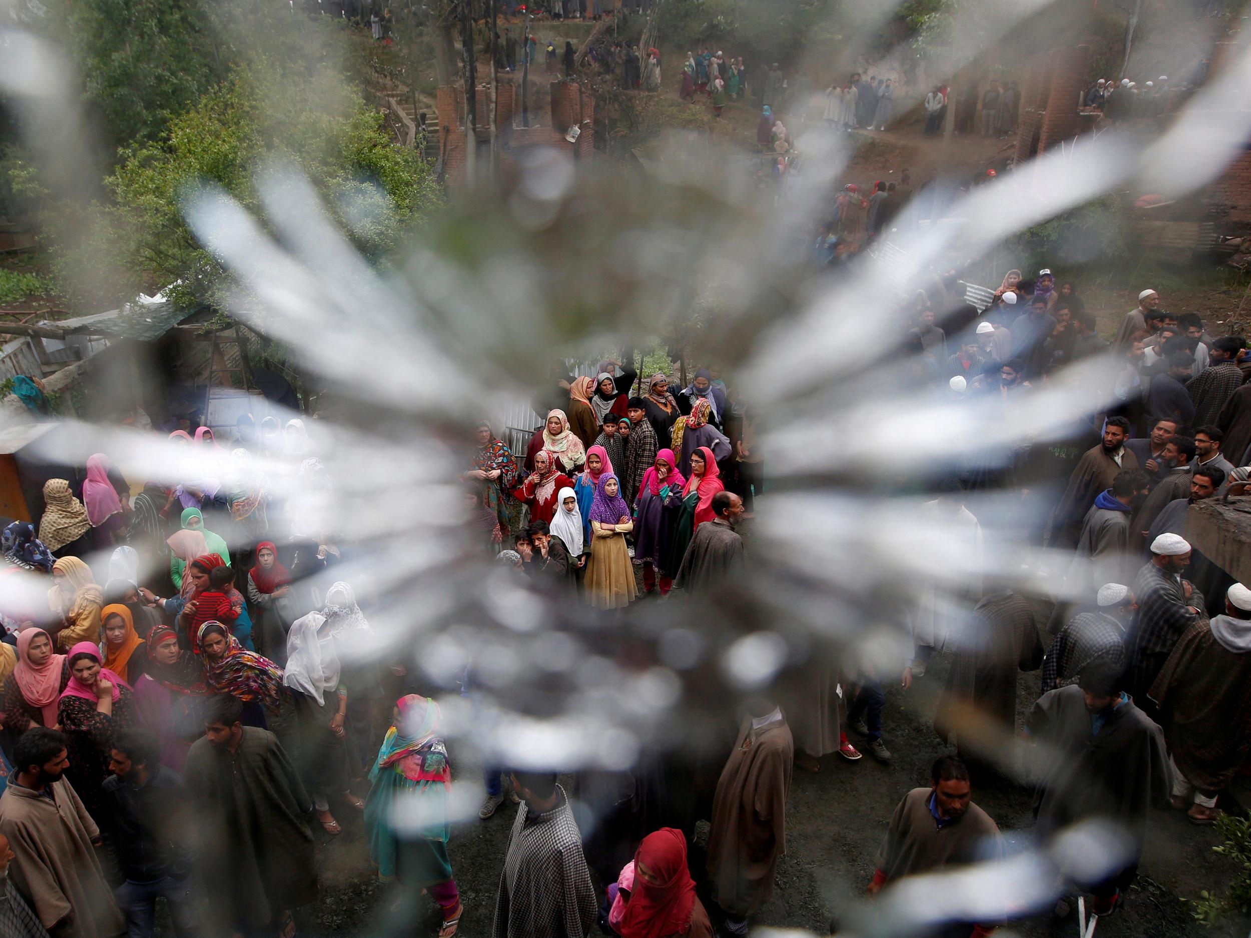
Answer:
[[[747,919],[773,894],[786,853],[786,799],[794,742],[782,708],[753,698],[734,750],[721,772],[708,834],[708,877],[726,929],[747,934]]]

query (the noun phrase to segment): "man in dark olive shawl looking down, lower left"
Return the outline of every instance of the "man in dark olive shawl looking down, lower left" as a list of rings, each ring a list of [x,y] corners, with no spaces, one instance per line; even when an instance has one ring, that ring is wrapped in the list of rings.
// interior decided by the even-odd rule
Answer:
[[[238,698],[210,698],[185,777],[210,908],[234,930],[290,938],[290,909],[317,898],[313,802],[278,737],[244,727]]]

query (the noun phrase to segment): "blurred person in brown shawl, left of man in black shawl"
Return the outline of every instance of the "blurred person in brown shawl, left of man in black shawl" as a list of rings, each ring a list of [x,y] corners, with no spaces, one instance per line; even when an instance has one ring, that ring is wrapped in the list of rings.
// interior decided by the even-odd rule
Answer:
[[[982,599],[947,647],[955,658],[934,732],[945,743],[955,733],[961,759],[982,762],[1016,734],[1017,672],[1037,670],[1046,649],[1030,603],[1008,590]]]

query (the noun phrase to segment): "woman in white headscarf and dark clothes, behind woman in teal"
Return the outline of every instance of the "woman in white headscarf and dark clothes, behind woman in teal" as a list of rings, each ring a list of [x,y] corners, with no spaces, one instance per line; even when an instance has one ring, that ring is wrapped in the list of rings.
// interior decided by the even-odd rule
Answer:
[[[330,620],[322,613],[311,612],[291,623],[283,683],[291,692],[299,727],[293,762],[313,798],[322,828],[328,834],[340,834],[343,828],[330,813],[329,795],[343,797],[358,810],[365,803],[348,790],[352,779],[352,740],[345,727],[348,688],[340,680]]]

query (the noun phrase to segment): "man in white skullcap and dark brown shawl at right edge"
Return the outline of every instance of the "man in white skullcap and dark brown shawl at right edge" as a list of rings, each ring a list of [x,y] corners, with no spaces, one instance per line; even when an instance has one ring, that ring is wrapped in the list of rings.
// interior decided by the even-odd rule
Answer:
[[[1235,583],[1223,615],[1191,625],[1151,698],[1172,759],[1172,805],[1188,809],[1196,824],[1211,824],[1217,795],[1251,749],[1251,589]]]

